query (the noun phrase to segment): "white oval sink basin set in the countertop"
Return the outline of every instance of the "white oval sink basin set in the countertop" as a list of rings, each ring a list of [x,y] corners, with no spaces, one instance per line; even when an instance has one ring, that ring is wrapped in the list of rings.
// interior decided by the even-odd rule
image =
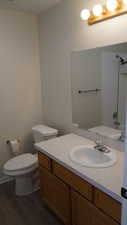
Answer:
[[[90,168],[110,167],[117,161],[115,151],[110,149],[109,153],[104,153],[91,145],[76,146],[69,152],[69,157],[74,163]]]

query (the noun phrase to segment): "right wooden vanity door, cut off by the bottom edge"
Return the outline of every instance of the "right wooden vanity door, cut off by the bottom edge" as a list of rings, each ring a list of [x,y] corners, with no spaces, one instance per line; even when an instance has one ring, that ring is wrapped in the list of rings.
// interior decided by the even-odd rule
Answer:
[[[118,223],[72,191],[72,225],[118,225]]]

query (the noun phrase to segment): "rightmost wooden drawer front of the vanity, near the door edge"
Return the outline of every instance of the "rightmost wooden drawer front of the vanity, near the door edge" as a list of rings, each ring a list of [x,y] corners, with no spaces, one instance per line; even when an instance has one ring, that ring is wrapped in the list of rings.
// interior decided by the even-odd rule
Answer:
[[[98,189],[94,191],[94,204],[120,223],[121,204]]]

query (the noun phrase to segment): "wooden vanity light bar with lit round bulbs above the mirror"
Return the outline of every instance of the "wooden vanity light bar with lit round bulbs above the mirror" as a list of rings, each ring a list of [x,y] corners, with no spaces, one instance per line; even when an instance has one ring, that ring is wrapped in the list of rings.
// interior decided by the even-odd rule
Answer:
[[[83,9],[81,18],[89,25],[127,13],[127,0],[106,0],[104,5],[97,4],[92,10]]]

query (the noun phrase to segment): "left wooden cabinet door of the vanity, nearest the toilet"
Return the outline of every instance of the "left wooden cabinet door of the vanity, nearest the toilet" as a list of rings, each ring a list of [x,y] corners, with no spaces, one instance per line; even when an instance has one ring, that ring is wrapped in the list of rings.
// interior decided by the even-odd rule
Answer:
[[[70,224],[71,201],[68,186],[43,168],[40,169],[40,183],[46,204],[64,224]]]

